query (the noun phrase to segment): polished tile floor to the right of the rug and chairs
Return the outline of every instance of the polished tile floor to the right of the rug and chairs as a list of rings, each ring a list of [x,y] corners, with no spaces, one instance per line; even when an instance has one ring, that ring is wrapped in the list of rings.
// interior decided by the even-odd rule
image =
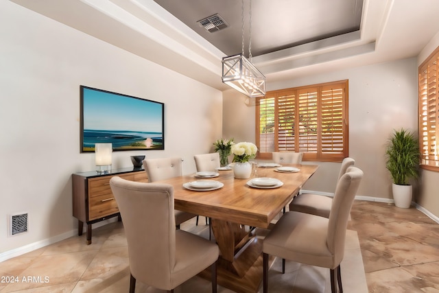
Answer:
[[[356,201],[357,231],[370,293],[439,292],[439,224],[414,209]]]

